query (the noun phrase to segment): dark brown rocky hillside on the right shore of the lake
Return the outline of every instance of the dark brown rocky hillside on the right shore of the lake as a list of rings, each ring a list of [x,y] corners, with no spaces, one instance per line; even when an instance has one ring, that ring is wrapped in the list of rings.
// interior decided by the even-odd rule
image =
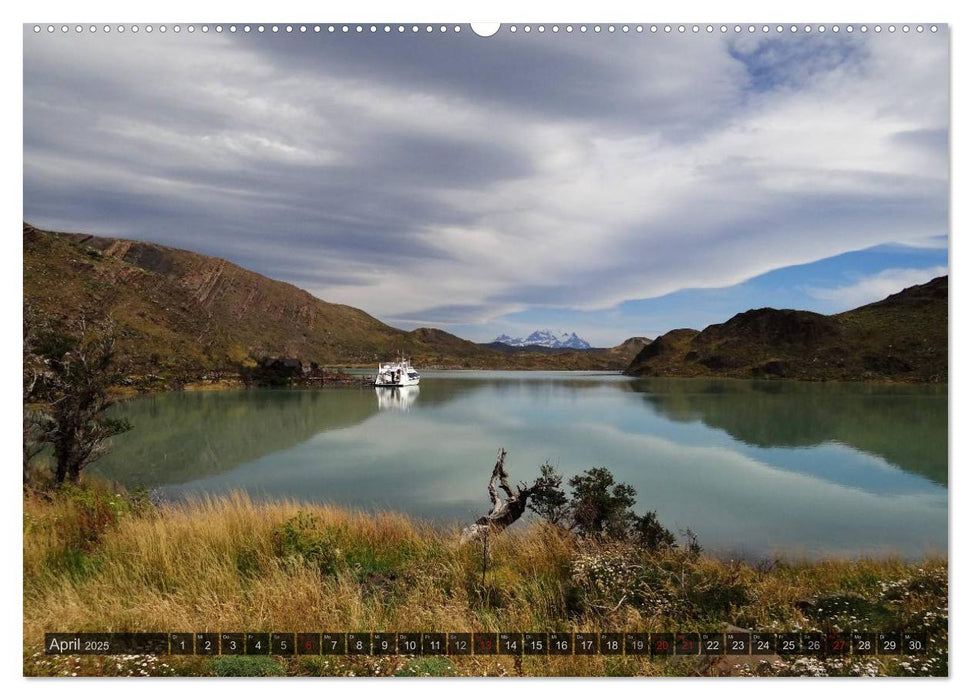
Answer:
[[[635,376],[947,381],[947,277],[825,316],[753,309],[641,350]]]

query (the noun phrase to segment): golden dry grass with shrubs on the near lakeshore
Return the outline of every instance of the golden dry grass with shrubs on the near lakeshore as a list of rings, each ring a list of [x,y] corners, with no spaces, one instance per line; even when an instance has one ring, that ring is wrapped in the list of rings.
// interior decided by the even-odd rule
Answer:
[[[483,587],[480,546],[391,513],[256,503],[241,494],[159,507],[97,487],[54,498],[26,495],[24,672],[131,675],[149,668],[152,675],[194,675],[221,668],[203,657],[142,666],[44,657],[45,631],[659,632],[734,624],[762,631],[928,631],[946,649],[944,560],[753,566],[578,540],[540,523],[517,525],[489,550]],[[440,660],[444,666],[407,657],[278,661],[282,672],[301,675],[709,670],[701,658],[466,657]],[[827,663],[827,673],[908,671],[888,657],[867,666]],[[925,666],[915,672],[946,673],[946,654]],[[806,669],[786,661],[763,671]],[[806,672],[813,671],[819,669]]]

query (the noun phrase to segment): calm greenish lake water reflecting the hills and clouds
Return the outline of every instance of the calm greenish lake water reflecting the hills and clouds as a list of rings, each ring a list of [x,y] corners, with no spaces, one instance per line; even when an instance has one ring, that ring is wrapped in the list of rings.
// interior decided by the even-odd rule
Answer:
[[[604,466],[671,530],[749,557],[947,549],[947,388],[582,372],[423,372],[419,387],[174,392],[92,470],[170,499],[234,489],[470,522],[513,482]]]

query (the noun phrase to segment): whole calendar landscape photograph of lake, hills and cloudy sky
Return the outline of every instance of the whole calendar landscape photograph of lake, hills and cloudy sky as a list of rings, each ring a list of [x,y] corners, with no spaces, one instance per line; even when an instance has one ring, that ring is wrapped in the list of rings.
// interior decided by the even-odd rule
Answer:
[[[23,675],[947,677],[946,24],[25,24]]]

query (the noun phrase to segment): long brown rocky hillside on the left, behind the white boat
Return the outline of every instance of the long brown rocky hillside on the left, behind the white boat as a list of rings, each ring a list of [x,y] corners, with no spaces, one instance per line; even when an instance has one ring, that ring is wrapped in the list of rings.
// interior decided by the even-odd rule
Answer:
[[[110,312],[134,371],[163,377],[231,371],[264,356],[369,365],[400,350],[424,368],[619,370],[636,354],[508,355],[433,328],[402,331],[226,260],[153,243],[25,223],[23,248],[26,301],[49,317]]]

